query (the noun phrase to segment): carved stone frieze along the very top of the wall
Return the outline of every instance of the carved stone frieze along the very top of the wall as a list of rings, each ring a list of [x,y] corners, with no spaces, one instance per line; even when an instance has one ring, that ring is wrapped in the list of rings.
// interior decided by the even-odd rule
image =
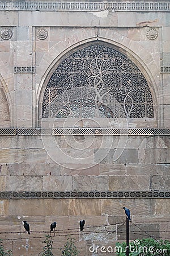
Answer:
[[[0,11],[170,11],[168,1],[160,2],[0,2]]]

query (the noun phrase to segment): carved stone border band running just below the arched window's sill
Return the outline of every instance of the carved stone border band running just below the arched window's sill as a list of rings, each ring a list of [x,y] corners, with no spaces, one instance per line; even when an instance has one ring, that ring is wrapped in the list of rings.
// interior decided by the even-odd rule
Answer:
[[[170,135],[170,129],[0,128],[1,135]]]

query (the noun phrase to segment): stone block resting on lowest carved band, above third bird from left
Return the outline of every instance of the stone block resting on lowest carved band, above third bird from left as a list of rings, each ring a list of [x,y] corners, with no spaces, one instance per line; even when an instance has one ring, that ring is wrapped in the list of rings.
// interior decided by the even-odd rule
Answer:
[[[74,176],[73,190],[75,191],[108,191],[106,176]]]

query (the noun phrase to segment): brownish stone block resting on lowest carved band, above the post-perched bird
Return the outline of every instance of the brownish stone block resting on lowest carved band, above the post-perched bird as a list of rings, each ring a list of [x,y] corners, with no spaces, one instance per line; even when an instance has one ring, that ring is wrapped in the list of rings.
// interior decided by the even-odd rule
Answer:
[[[150,188],[150,177],[141,175],[121,176],[114,175],[109,177],[109,190],[130,190],[148,191]]]

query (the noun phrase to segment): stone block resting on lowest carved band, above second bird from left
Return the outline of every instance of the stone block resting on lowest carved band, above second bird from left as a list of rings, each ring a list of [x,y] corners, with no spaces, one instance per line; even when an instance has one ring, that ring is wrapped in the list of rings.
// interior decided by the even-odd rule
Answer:
[[[43,189],[44,191],[71,191],[72,177],[71,176],[44,176]]]

